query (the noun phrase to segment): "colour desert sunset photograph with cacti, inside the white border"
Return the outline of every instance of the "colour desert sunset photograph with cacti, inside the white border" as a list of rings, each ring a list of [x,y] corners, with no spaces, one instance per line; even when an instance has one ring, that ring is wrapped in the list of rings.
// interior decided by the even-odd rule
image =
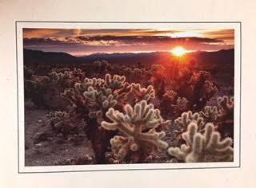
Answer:
[[[24,165],[233,163],[237,30],[100,25],[19,29]]]

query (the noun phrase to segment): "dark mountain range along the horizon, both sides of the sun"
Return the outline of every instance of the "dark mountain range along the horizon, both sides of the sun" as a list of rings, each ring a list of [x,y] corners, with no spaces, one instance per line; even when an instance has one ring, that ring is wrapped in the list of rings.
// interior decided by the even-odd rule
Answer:
[[[170,52],[154,53],[94,53],[84,57],[74,57],[68,53],[42,52],[24,49],[25,64],[66,64],[66,63],[92,63],[94,61],[109,61],[111,64],[165,64],[177,61]],[[195,60],[198,64],[234,64],[234,49],[222,49],[216,52],[197,51],[187,53],[188,61]]]

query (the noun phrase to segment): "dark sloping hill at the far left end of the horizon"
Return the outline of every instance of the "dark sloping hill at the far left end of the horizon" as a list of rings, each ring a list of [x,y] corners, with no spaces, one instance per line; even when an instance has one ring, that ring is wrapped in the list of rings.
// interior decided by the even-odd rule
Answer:
[[[42,52],[39,50],[24,49],[25,64],[62,64],[78,61],[78,57],[69,53]]]

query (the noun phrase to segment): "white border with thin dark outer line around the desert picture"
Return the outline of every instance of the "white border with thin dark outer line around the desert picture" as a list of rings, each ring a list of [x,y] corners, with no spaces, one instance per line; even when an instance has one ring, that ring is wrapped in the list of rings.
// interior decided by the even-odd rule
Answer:
[[[240,167],[241,159],[241,22],[16,22],[18,87],[18,173],[50,173],[105,170],[166,170]],[[234,162],[145,163],[76,166],[25,166],[23,82],[23,28],[44,29],[234,29]]]

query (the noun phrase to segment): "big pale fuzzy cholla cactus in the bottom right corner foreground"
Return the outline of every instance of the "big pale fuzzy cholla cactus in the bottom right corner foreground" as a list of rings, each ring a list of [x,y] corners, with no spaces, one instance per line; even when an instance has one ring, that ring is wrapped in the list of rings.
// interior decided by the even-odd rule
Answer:
[[[229,162],[233,160],[234,150],[232,139],[221,140],[218,131],[214,131],[214,124],[207,123],[205,132],[198,132],[198,124],[190,123],[186,132],[182,134],[186,144],[170,147],[169,153],[186,163],[200,162]]]

